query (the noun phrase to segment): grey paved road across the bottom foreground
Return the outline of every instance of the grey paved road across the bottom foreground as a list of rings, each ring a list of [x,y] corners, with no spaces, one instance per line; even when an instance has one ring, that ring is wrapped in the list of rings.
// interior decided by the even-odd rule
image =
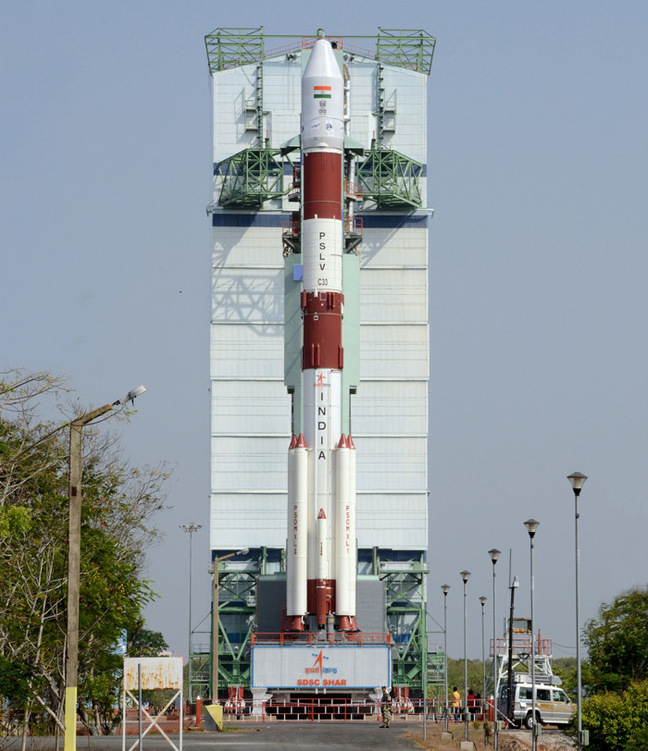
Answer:
[[[378,723],[277,723],[272,725],[245,724],[222,733],[185,733],[183,751],[207,751],[208,749],[241,749],[241,751],[413,751],[418,747],[405,737],[406,733],[421,731],[414,723],[381,728]],[[178,745],[177,734],[170,736]],[[2,742],[0,738],[0,743]],[[54,748],[53,738],[34,738],[34,751],[49,751]],[[137,741],[127,736],[126,751]],[[144,737],[142,751],[173,751],[162,736]],[[121,751],[121,736],[84,736],[77,739],[77,751]],[[20,749],[20,739],[12,739],[11,751]],[[29,749],[29,745],[28,745]],[[61,739],[60,749],[63,749]],[[135,748],[137,751],[137,748]]]

